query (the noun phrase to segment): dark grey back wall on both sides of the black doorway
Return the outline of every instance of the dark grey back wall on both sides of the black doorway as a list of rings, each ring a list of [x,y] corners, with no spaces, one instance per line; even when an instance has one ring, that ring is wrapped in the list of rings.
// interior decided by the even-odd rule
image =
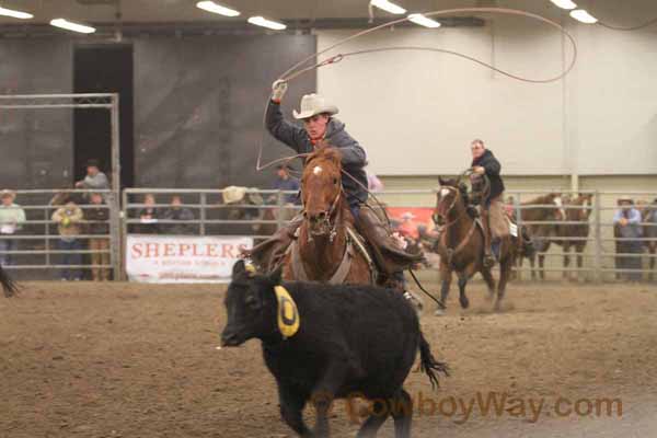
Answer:
[[[134,185],[269,186],[274,170],[255,171],[261,142],[265,161],[291,153],[262,127],[270,84],[315,44],[311,35],[134,41]],[[0,93],[71,93],[73,45],[68,38],[0,39]],[[285,114],[314,90],[313,72],[295,80]],[[0,111],[0,188],[71,184],[72,114]]]

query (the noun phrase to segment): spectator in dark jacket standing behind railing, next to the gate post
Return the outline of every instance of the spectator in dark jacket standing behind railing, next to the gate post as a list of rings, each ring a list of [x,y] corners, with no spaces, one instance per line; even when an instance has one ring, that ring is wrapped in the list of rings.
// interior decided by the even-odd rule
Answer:
[[[94,281],[106,281],[110,279],[110,269],[101,266],[110,265],[110,210],[100,193],[91,194],[91,206],[84,210],[84,217],[89,221],[88,233],[97,235],[89,239],[89,249],[94,251],[91,254],[91,278]]]

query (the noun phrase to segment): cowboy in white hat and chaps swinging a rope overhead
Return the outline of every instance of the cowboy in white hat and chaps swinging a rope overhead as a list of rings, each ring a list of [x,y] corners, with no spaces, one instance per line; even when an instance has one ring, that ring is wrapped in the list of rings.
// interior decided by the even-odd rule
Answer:
[[[365,149],[345,130],[345,124],[334,117],[338,110],[326,103],[319,94],[307,94],[301,100],[301,108],[295,111],[296,119],[303,127],[285,120],[280,111],[280,101],[287,91],[287,82],[276,81],[268,103],[265,125],[269,134],[298,153],[311,153],[324,147],[336,148],[342,157],[342,186],[349,210],[354,216],[356,229],[370,246],[381,277],[389,285],[403,288],[402,270],[422,260],[420,254],[404,252],[379,216],[366,204],[368,199]],[[285,256],[302,217],[292,219],[267,241],[256,245],[249,255],[262,269],[273,270]]]

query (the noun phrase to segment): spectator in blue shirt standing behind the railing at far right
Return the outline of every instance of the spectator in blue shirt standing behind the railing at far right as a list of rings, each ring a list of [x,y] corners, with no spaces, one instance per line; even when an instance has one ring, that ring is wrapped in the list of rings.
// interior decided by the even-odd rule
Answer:
[[[613,224],[616,234],[622,240],[618,242],[616,251],[622,254],[616,257],[621,269],[641,269],[641,257],[638,254],[643,251],[641,229],[641,212],[634,208],[634,203],[630,198],[621,198],[618,200],[619,209],[613,215]],[[635,255],[636,254],[636,255]],[[621,275],[631,281],[639,281],[642,278],[641,272],[630,272]]]

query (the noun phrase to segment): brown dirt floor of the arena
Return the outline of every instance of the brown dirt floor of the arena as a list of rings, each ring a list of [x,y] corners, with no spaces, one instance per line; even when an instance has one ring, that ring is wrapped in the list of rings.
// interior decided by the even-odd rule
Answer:
[[[217,349],[223,287],[23,288],[0,299],[0,437],[293,436],[260,343]],[[480,283],[468,311],[457,296],[422,319],[452,376],[407,379],[415,437],[657,436],[654,284],[514,283],[500,313]],[[343,402],[331,426],[356,435]]]

